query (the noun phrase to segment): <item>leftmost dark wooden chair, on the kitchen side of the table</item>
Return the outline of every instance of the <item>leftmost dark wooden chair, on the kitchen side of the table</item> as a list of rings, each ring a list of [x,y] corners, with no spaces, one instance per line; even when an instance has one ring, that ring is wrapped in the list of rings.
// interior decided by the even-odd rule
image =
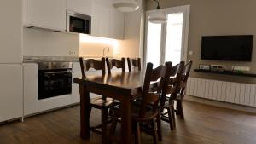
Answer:
[[[82,57],[79,58],[80,66],[81,66],[81,72],[82,77],[86,78],[86,71],[88,71],[90,68],[93,68],[95,70],[102,70],[102,74],[105,74],[105,58],[102,58],[102,60],[84,60]],[[102,136],[102,143],[106,143],[107,140],[107,124],[108,124],[108,110],[111,107],[114,107],[116,103],[113,101],[113,99],[106,98],[105,95],[102,95],[102,98],[96,98],[94,100],[90,101],[90,107],[100,109],[102,111],[102,124],[90,127],[90,130],[93,132],[96,132],[96,134],[99,134]],[[100,129],[101,130],[97,130]]]

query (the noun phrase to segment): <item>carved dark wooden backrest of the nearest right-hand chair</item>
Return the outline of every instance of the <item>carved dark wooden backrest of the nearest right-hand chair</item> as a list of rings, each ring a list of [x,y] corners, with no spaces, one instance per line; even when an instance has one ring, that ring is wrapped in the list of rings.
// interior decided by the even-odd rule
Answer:
[[[139,111],[139,117],[143,118],[145,112],[147,110],[148,104],[153,106],[153,111],[156,110],[159,106],[160,101],[160,92],[163,89],[164,77],[166,75],[166,66],[161,65],[153,69],[153,64],[148,63],[146,68],[146,74],[143,84],[143,94],[142,94],[142,104]],[[158,88],[155,91],[150,90],[150,84],[152,82],[157,82],[160,80],[160,84],[158,84]]]

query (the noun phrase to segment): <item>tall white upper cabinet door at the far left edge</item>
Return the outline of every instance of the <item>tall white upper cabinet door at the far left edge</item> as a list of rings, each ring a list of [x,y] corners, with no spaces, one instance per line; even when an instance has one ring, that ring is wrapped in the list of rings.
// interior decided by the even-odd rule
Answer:
[[[21,4],[17,0],[0,1],[0,63],[22,62]]]

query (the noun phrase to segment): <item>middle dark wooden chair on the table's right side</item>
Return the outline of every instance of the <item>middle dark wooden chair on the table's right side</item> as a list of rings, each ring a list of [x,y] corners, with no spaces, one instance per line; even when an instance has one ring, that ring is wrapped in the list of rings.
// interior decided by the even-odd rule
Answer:
[[[184,67],[184,62],[180,62],[176,66],[168,65],[171,67],[167,69],[165,84],[161,94],[160,100],[160,112],[161,119],[170,124],[170,129],[175,130],[175,116],[174,116],[174,99],[180,91],[180,85],[182,81],[182,72]]]

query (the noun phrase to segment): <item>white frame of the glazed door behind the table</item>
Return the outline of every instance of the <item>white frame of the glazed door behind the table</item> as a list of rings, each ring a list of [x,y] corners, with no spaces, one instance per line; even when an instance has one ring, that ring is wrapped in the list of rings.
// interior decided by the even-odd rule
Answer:
[[[144,50],[143,50],[143,57],[144,62],[143,66],[146,66],[147,62],[147,44],[148,44],[148,16],[150,14],[155,13],[157,10],[148,10],[146,11],[146,19],[145,19],[145,41],[144,41]],[[182,54],[181,59],[183,61],[187,61],[188,56],[188,42],[189,42],[189,15],[190,15],[190,5],[183,5],[183,6],[177,6],[172,8],[166,8],[166,9],[160,9],[160,11],[163,11],[166,14],[170,13],[179,13],[183,12],[183,37],[182,37]],[[166,51],[166,23],[162,24],[161,26],[161,43],[160,43],[160,54],[165,55]],[[165,37],[165,38],[163,38]],[[160,57],[160,63],[165,62],[165,56]]]

